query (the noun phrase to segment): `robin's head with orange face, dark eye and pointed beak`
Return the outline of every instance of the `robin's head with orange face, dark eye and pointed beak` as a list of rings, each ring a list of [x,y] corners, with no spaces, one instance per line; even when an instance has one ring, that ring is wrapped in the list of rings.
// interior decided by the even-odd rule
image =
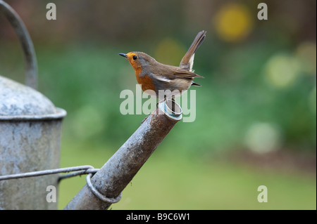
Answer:
[[[154,58],[143,52],[132,51],[129,53],[119,53],[119,55],[127,58],[135,71],[142,69],[142,67],[147,67],[151,63],[156,62]]]

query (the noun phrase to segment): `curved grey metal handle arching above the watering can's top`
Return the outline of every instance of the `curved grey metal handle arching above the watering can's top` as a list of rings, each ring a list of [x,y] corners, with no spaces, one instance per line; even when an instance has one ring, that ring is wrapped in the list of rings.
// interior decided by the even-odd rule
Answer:
[[[22,44],[26,60],[25,84],[37,89],[37,58],[35,56],[35,50],[30,34],[27,32],[27,29],[18,13],[16,13],[11,6],[2,0],[0,0],[0,12],[4,13],[8,21],[11,23]]]

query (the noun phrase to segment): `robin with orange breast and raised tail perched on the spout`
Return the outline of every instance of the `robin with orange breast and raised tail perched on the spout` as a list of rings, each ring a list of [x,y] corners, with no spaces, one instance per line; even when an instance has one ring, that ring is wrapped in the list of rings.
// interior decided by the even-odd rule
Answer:
[[[194,78],[203,78],[194,73],[194,55],[206,37],[206,31],[201,31],[194,39],[192,46],[185,53],[180,66],[163,65],[146,53],[132,51],[130,53],[120,53],[119,55],[127,58],[135,69],[137,82],[142,85],[142,91],[147,91],[151,95],[156,95],[159,99],[175,98],[181,95],[190,86],[200,86],[193,81]],[[160,91],[170,93],[161,97]]]

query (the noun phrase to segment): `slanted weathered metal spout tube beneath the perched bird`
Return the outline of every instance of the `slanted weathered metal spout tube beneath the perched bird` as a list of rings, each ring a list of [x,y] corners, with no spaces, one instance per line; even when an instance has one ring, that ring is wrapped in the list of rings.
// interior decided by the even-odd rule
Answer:
[[[105,197],[118,197],[177,122],[157,108],[92,177],[94,187]],[[85,185],[65,209],[104,210],[109,206]]]

